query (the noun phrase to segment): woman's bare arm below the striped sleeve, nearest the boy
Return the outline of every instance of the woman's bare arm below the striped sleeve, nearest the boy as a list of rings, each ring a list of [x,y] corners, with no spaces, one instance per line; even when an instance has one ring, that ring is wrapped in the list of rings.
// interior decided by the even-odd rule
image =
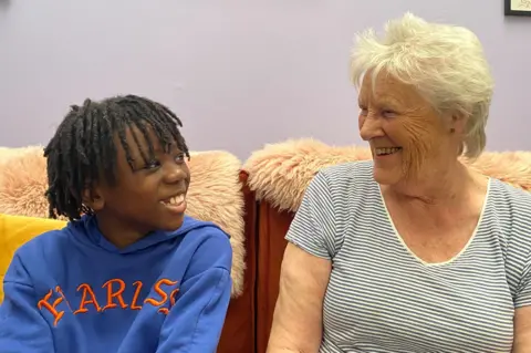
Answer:
[[[280,274],[268,353],[316,353],[323,331],[323,299],[331,261],[289,243]]]

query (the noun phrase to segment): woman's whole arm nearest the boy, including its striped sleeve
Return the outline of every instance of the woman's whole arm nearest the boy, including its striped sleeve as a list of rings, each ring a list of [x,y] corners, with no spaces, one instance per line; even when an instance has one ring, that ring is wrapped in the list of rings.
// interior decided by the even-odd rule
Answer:
[[[316,353],[323,336],[323,300],[341,242],[325,172],[315,175],[285,239],[280,291],[268,353]]]

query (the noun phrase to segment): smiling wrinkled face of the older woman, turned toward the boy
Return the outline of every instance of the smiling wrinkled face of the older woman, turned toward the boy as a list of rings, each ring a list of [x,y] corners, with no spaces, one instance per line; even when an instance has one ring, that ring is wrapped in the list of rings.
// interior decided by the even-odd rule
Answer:
[[[385,72],[374,84],[367,73],[360,91],[360,134],[371,145],[378,184],[436,177],[456,160],[451,118],[439,116],[415,87]]]

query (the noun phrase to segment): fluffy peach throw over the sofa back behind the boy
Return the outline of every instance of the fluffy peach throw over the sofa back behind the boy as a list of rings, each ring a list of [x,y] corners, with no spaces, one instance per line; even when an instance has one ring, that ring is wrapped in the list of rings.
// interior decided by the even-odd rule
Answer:
[[[227,152],[191,153],[187,214],[212,221],[230,236],[232,297],[243,291],[246,269],[240,160]],[[46,160],[42,147],[0,148],[0,214],[48,217]]]

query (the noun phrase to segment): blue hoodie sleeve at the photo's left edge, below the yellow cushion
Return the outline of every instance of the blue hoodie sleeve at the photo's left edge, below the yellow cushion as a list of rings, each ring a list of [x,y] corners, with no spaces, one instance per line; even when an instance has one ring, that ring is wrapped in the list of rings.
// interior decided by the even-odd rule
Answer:
[[[3,280],[0,304],[1,352],[53,353],[50,326],[37,308],[37,294],[18,255]]]

